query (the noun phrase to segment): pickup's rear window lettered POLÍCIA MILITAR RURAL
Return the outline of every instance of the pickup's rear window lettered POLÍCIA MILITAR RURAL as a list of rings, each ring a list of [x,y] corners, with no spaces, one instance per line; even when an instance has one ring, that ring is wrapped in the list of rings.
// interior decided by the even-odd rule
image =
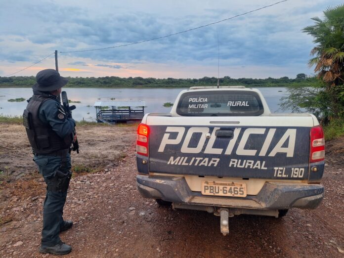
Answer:
[[[259,116],[264,109],[256,92],[191,91],[181,95],[176,112],[180,116]]]

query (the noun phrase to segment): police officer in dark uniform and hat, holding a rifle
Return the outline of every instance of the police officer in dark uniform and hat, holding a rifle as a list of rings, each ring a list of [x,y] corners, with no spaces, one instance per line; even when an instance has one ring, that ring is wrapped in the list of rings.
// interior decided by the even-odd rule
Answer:
[[[59,233],[73,225],[71,220],[63,220],[62,215],[72,175],[70,146],[76,140],[75,121],[67,117],[58,99],[67,79],[53,69],[45,69],[37,74],[36,80],[23,122],[34,161],[47,185],[40,252],[65,255],[72,247],[60,240]]]

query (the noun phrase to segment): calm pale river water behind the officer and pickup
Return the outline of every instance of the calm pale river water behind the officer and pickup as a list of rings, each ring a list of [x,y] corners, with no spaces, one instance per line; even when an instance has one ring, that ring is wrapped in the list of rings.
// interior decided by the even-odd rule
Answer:
[[[95,101],[124,101],[142,100],[146,102],[145,113],[169,113],[170,108],[163,107],[166,102],[174,102],[176,96],[183,88],[64,88],[68,99],[81,101],[72,103],[77,109],[73,111],[73,118],[77,121],[95,121]],[[260,87],[259,90],[272,113],[290,113],[280,110],[281,97],[287,96],[285,87]],[[25,98],[32,96],[31,88],[0,88],[0,115],[19,116],[23,114],[27,102],[9,102],[8,99]]]

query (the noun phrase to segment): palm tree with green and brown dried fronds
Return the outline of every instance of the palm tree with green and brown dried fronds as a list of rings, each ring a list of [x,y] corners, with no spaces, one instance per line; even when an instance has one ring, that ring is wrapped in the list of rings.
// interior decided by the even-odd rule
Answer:
[[[328,7],[324,19],[313,17],[314,25],[302,31],[310,34],[317,45],[311,50],[308,65],[323,80],[327,89],[344,84],[344,4]]]

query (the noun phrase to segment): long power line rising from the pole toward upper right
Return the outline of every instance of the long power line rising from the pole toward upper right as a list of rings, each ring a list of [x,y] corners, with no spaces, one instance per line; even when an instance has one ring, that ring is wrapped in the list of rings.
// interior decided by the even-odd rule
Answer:
[[[227,21],[227,20],[230,20],[230,19],[234,19],[236,17],[243,16],[245,14],[248,14],[248,13],[251,13],[251,12],[255,12],[255,11],[258,11],[258,10],[261,10],[261,9],[264,9],[264,8],[276,5],[276,4],[281,3],[281,2],[286,2],[286,1],[287,0],[282,0],[282,1],[279,1],[279,2],[275,2],[273,4],[266,5],[266,6],[263,6],[263,7],[260,7],[258,9],[255,9],[255,10],[252,10],[252,11],[248,11],[248,12],[245,12],[245,13],[242,13],[242,14],[238,14],[238,15],[232,16],[230,18],[226,18],[226,19],[223,19],[223,20],[220,20],[220,21],[216,21],[216,22],[212,22],[212,23],[209,23],[209,24],[206,24],[206,25],[202,25],[202,26],[199,26],[197,28],[188,29],[188,30],[185,30],[185,31],[177,32],[177,33],[172,33],[172,34],[169,34],[169,35],[166,35],[166,36],[162,36],[162,37],[158,37],[158,38],[153,38],[153,39],[150,39],[150,40],[138,41],[138,42],[134,42],[134,43],[128,43],[128,44],[116,45],[116,46],[109,46],[109,47],[103,47],[103,48],[87,49],[87,50],[61,51],[60,53],[76,53],[76,52],[96,51],[96,50],[116,48],[116,47],[122,47],[122,46],[134,45],[134,44],[139,44],[139,43],[144,43],[144,42],[149,42],[149,41],[160,40],[160,39],[168,38],[168,37],[171,37],[171,36],[174,36],[174,35],[182,34],[182,33],[185,33],[185,32],[194,31],[194,30],[197,30],[197,29],[200,29],[200,28],[204,28],[204,27],[207,27],[207,26],[210,26],[210,25],[214,25],[216,23],[220,23],[220,22]]]

